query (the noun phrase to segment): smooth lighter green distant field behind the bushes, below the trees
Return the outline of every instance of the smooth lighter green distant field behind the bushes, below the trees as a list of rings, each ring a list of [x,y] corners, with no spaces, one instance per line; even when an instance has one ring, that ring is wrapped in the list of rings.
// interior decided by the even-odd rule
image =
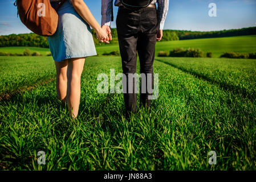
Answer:
[[[256,52],[256,35],[157,42],[156,53],[159,51],[170,51],[177,47],[200,48],[205,53],[213,52],[213,57],[220,57],[224,52],[250,53]],[[26,47],[2,47],[0,52],[22,53],[25,49]],[[47,48],[30,47],[29,49],[31,52],[38,51],[42,55],[50,53],[50,50]],[[97,53],[102,55],[104,52],[119,50],[119,46],[97,46],[96,49]]]

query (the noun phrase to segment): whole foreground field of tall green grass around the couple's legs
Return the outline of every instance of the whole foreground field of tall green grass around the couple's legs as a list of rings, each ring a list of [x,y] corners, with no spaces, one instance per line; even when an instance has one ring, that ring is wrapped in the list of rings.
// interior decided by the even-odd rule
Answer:
[[[255,42],[247,51],[255,52]],[[0,57],[0,65],[1,93],[55,77],[47,56]],[[128,123],[123,95],[96,90],[99,73],[122,72],[120,57],[90,57],[76,121],[57,100],[55,81],[0,101],[0,169],[255,170],[255,65],[156,57],[159,98],[150,114],[139,107]],[[36,163],[38,151],[46,152],[44,166]],[[216,165],[209,165],[209,151],[216,151]]]

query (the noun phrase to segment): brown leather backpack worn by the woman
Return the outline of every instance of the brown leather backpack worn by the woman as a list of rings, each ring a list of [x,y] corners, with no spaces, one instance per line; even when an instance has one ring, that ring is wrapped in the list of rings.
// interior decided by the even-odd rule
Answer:
[[[66,0],[60,0],[55,9],[50,0],[16,0],[19,18],[29,30],[41,36],[53,35],[58,27],[56,11]]]

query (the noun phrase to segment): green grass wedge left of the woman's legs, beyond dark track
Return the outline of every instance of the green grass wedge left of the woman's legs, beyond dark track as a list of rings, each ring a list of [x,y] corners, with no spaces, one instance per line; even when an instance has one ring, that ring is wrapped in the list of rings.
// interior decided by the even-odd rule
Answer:
[[[32,86],[56,76],[52,57],[0,57],[0,95]]]

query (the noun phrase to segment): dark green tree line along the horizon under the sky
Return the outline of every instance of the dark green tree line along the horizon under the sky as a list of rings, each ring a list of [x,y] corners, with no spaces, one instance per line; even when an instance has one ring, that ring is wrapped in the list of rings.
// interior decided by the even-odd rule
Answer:
[[[162,41],[173,40],[186,40],[186,39],[203,39],[203,38],[220,38],[227,36],[240,36],[240,35],[256,35],[256,27],[222,30],[222,31],[185,31],[185,30],[164,30]],[[92,30],[95,45],[101,46],[101,43],[96,38],[96,32]],[[110,44],[118,44],[116,28],[112,28],[112,41]],[[43,47],[48,48],[48,41],[46,37],[39,36],[33,33],[30,34],[11,34],[0,36],[0,47]]]

